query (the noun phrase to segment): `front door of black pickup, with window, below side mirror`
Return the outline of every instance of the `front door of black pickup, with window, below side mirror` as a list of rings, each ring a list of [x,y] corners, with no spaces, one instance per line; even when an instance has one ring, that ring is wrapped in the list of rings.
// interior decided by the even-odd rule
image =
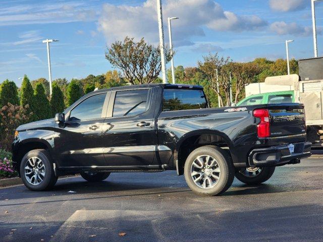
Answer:
[[[55,138],[60,167],[104,166],[102,125],[106,93],[89,96],[66,114]],[[105,105],[104,105],[105,106]]]

